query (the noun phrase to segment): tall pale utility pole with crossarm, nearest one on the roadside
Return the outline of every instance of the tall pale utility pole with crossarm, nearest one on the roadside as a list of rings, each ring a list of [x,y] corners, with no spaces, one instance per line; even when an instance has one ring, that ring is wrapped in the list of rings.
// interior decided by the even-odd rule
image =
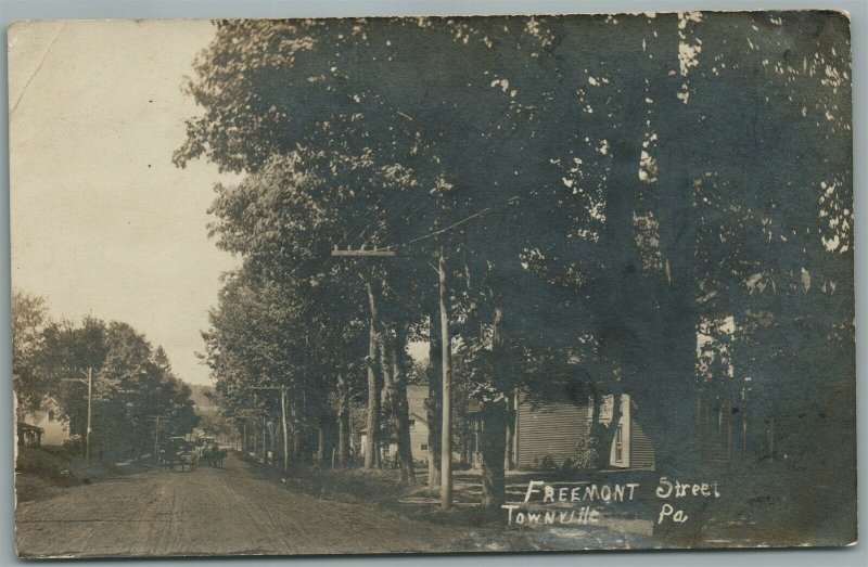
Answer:
[[[333,249],[332,256],[349,258],[395,258],[391,249],[341,250]],[[452,507],[452,412],[451,412],[451,342],[449,339],[449,304],[446,294],[446,256],[443,246],[437,250],[437,285],[439,288],[441,334],[443,337],[443,426],[441,437],[441,507]],[[432,321],[433,323],[433,321]]]

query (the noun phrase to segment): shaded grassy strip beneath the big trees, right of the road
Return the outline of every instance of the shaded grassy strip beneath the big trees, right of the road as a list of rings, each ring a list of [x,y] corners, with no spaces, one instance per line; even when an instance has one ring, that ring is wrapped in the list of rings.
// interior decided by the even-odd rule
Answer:
[[[706,478],[682,478],[682,481],[718,480],[720,498],[661,500],[654,489],[660,473],[654,471],[601,471],[601,472],[526,472],[507,473],[507,501],[523,502],[529,480],[549,484],[575,485],[576,481],[614,484],[637,482],[643,487],[637,490],[631,502],[602,503],[597,507],[608,518],[598,526],[583,526],[570,529],[526,529],[505,526],[505,512],[492,513],[481,508],[482,486],[478,471],[457,471],[454,475],[455,504],[448,512],[439,508],[439,487],[427,486],[426,471],[417,472],[417,485],[401,485],[400,473],[395,469],[320,469],[311,465],[293,468],[288,475],[270,466],[250,460],[263,474],[282,482],[288,488],[316,495],[323,500],[359,502],[374,504],[388,513],[413,519],[437,524],[449,524],[472,529],[473,536],[465,538],[467,544],[490,550],[534,550],[534,549],[615,549],[623,546],[648,547],[660,544],[651,539],[652,524],[664,502],[676,507],[686,507],[699,521],[699,540],[693,545],[715,547],[768,545],[775,541],[787,541],[793,545],[810,544],[813,538],[805,534],[819,534],[817,526],[830,529],[835,526],[842,543],[853,531],[848,523],[853,514],[844,513],[852,502],[840,502],[835,488],[841,482],[833,474],[816,476],[802,472],[808,490],[793,498],[792,488],[782,490],[780,478],[787,478],[782,469],[792,463],[775,462],[761,466],[744,467],[737,471],[707,472]],[[792,471],[788,471],[792,476]],[[676,480],[675,478],[672,479]],[[538,499],[536,494],[534,499]],[[842,512],[840,518],[834,511]],[[848,512],[848,511],[847,511]],[[788,518],[781,525],[780,518]],[[487,529],[488,528],[488,529]],[[496,529],[495,529],[496,528]],[[656,531],[654,529],[653,531]],[[677,536],[677,533],[676,533]],[[664,545],[666,545],[665,534]],[[801,538],[801,539],[800,539]],[[852,536],[855,540],[855,533]],[[592,543],[588,544],[590,540]],[[678,542],[676,541],[676,544]]]

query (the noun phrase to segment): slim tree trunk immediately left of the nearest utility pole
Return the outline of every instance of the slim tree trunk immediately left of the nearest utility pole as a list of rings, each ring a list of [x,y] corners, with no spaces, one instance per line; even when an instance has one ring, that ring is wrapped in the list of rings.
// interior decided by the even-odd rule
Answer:
[[[441,337],[439,307],[432,294],[429,306],[429,366],[427,366],[427,486],[441,485],[441,423],[443,421],[443,337]]]

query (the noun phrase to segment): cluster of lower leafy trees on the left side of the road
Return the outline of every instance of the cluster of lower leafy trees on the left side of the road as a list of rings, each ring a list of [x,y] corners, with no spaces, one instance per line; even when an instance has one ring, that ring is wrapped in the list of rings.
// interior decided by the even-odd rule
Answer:
[[[51,321],[44,300],[15,292],[15,391],[36,410],[53,397],[82,438],[87,429],[87,375],[92,379],[93,454],[106,459],[150,452],[157,415],[162,436],[186,435],[197,422],[190,387],[173,372],[162,347],[126,323],[90,317],[80,324]]]

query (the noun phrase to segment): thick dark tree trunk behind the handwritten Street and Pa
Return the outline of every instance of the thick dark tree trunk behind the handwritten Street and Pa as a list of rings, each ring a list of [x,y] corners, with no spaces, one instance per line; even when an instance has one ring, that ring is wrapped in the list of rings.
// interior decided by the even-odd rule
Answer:
[[[673,36],[673,41],[675,41]],[[677,46],[673,44],[673,50]],[[661,78],[651,88],[674,92],[684,77]],[[699,387],[697,381],[697,208],[695,181],[709,164],[682,132],[702,123],[702,111],[693,98],[688,104],[675,96],[652,95],[660,105],[655,112],[666,116],[658,121],[658,210],[660,248],[664,273],[656,279],[655,299],[660,322],[650,331],[656,343],[649,349],[647,368],[656,369],[653,387],[648,385],[637,398],[642,414],[650,414],[642,428],[651,437],[656,451],[656,468],[661,476],[698,478],[700,474],[700,439],[698,427]],[[686,157],[687,156],[687,157]],[[641,400],[641,401],[640,401]],[[641,405],[643,404],[643,405]],[[690,520],[682,525],[655,525],[654,534],[676,545],[701,543],[704,505],[686,501],[682,506]]]

